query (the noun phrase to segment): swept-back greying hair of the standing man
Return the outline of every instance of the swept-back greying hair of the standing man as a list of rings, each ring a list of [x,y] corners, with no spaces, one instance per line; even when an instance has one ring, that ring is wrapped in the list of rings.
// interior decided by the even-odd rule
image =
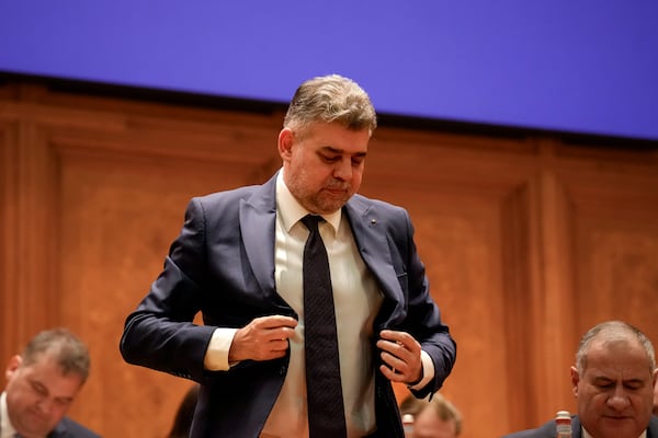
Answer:
[[[317,122],[338,122],[352,130],[377,127],[375,108],[367,93],[353,80],[339,74],[304,82],[293,96],[283,126],[304,136]]]

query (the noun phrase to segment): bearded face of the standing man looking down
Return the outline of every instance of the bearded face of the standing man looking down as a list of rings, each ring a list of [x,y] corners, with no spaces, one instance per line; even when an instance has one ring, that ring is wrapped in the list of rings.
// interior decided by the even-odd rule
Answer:
[[[307,210],[331,214],[361,186],[370,134],[338,123],[318,123],[302,138],[291,129],[279,135],[279,152],[291,193]]]

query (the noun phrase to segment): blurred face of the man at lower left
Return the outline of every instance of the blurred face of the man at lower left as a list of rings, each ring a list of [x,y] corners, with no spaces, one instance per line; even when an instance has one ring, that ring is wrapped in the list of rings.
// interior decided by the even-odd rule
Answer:
[[[11,358],[7,371],[7,407],[11,424],[24,437],[46,436],[66,414],[82,378],[64,376],[50,356],[42,354],[32,365]]]

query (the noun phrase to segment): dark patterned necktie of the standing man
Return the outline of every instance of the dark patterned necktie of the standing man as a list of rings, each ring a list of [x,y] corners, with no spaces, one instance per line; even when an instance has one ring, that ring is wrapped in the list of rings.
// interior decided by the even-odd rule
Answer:
[[[304,349],[310,438],[347,436],[340,384],[336,311],[329,258],[318,231],[320,216],[305,216],[310,231],[304,246]]]

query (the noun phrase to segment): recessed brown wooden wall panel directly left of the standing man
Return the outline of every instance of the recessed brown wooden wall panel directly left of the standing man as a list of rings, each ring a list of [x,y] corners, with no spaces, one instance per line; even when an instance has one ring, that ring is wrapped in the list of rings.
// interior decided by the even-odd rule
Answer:
[[[86,396],[102,402],[78,404],[75,414],[97,419],[107,436],[163,436],[190,385],[128,366],[118,353],[123,322],[161,269],[186,203],[260,181],[254,175],[273,171],[275,153],[269,142],[253,141],[257,132],[249,153],[236,154],[236,143],[222,139],[227,132],[195,138],[182,129],[162,137],[141,129],[101,142],[70,134],[53,138],[60,152],[60,235],[67,242],[60,254],[63,320],[77,321],[89,334],[94,376],[112,376],[88,383]],[[112,408],[123,399],[133,408]]]

